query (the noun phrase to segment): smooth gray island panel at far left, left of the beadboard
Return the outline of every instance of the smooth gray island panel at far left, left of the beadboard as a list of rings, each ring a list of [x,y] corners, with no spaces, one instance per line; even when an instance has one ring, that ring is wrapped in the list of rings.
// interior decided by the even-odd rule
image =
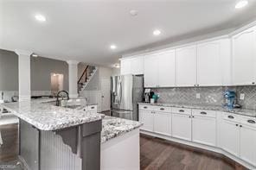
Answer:
[[[19,150],[26,167],[40,170],[40,131],[21,119]]]

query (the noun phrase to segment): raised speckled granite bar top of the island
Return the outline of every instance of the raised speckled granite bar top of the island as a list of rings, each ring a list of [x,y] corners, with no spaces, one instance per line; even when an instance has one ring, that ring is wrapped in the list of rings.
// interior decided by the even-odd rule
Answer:
[[[41,130],[56,130],[102,119],[102,114],[55,106],[54,98],[1,104],[12,114]]]

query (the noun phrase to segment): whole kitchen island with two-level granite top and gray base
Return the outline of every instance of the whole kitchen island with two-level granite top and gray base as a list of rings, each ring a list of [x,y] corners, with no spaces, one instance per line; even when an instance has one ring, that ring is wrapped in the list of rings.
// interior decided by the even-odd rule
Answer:
[[[96,111],[58,107],[48,100],[2,104],[2,107],[20,119],[19,154],[33,170],[113,169],[109,161],[102,163],[114,157],[108,154],[118,155],[120,148],[126,150],[131,142],[139,142],[141,123],[104,118]],[[117,145],[118,149],[107,143]],[[139,149],[133,151],[139,155]],[[132,169],[139,169],[139,159],[133,165]]]

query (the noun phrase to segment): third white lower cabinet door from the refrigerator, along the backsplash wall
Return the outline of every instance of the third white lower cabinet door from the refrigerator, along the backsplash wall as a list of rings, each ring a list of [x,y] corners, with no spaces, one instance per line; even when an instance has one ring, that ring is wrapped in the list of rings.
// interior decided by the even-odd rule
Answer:
[[[191,118],[188,115],[172,114],[172,136],[191,141]]]

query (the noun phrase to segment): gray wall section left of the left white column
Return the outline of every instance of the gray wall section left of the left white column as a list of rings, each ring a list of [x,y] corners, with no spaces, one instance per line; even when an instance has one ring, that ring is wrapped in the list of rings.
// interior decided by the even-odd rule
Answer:
[[[18,91],[18,57],[0,49],[0,91]]]

